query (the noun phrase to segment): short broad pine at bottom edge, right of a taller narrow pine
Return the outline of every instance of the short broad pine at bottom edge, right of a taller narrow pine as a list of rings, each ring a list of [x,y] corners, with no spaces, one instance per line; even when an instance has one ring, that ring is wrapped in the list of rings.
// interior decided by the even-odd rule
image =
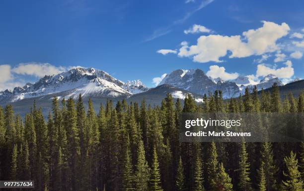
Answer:
[[[223,163],[219,165],[219,173],[217,176],[217,191],[232,191],[231,178],[225,172]]]

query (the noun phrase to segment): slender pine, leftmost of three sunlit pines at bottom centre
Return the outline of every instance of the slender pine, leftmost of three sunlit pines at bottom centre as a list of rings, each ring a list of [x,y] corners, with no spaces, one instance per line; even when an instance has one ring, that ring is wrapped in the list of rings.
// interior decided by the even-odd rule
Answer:
[[[122,188],[124,191],[135,191],[134,188],[134,173],[133,173],[133,165],[132,165],[132,156],[131,156],[131,149],[130,149],[130,141],[129,136],[127,139],[127,148],[125,151],[125,157],[124,157],[124,167],[123,167],[123,183]]]

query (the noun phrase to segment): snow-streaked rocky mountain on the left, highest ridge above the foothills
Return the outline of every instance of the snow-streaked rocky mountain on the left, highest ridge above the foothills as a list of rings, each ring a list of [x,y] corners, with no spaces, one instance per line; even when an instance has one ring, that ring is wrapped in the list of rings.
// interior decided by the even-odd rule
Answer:
[[[125,89],[127,87],[128,89]],[[131,96],[143,91],[147,91],[147,87],[140,81],[125,84],[102,70],[77,67],[57,75],[45,76],[35,84],[27,83],[24,87],[14,88],[13,91],[0,92],[0,101],[14,102],[59,92],[66,93],[64,96],[76,98],[80,93],[83,96],[117,97]]]

